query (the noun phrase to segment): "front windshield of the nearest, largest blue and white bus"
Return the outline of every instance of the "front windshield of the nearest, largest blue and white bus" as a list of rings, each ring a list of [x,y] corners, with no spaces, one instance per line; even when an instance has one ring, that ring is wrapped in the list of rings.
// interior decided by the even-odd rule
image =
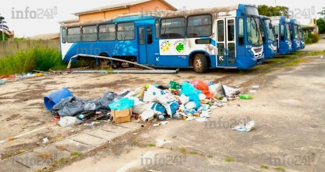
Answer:
[[[247,17],[248,42],[252,45],[262,45],[262,25],[260,18]]]

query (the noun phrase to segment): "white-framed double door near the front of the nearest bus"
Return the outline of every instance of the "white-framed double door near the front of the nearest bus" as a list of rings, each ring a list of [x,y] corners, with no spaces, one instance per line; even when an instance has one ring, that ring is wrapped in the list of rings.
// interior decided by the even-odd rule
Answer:
[[[217,19],[217,66],[236,66],[235,18]]]

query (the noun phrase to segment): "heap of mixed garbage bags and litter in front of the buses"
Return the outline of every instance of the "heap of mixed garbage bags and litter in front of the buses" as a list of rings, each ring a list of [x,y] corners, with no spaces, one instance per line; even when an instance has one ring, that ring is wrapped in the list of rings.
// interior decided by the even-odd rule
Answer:
[[[83,100],[71,93],[48,109],[54,115],[52,121],[63,127],[96,120],[122,123],[134,118],[149,122],[154,117],[204,122],[210,117],[211,109],[227,105],[227,101],[237,99],[240,92],[238,88],[199,79],[182,84],[170,81],[169,86],[146,85],[120,93],[107,91],[94,100]],[[46,101],[44,99],[48,104]]]

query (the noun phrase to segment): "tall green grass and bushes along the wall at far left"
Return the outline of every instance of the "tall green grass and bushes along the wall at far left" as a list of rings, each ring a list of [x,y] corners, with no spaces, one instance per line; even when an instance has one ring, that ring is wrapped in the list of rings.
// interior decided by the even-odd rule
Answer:
[[[34,48],[20,51],[14,56],[0,58],[0,75],[28,72],[33,69],[47,71],[62,68],[63,65],[61,54],[57,50]]]

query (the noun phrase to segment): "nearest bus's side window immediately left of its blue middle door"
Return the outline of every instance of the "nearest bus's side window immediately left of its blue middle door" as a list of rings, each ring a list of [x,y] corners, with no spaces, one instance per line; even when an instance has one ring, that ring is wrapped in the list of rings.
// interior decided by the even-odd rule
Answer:
[[[133,40],[134,39],[134,23],[117,24],[117,40]]]

